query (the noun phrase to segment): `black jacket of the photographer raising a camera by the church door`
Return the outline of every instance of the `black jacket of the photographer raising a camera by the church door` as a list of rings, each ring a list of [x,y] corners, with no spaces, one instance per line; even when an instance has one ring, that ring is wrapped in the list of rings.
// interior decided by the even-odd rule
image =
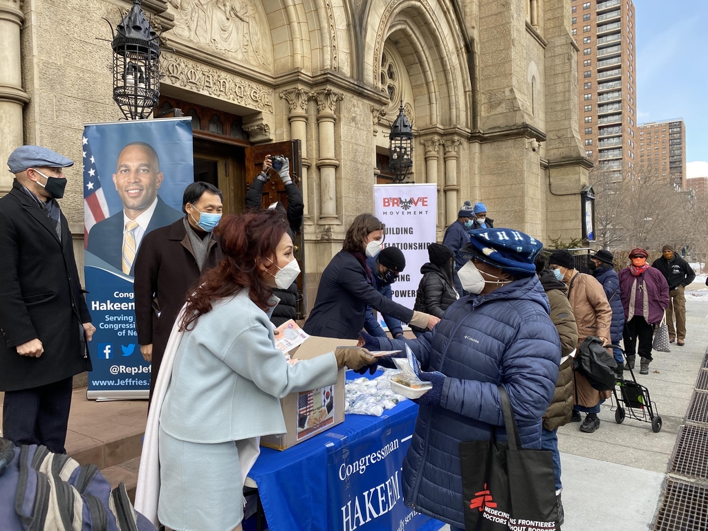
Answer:
[[[249,187],[249,191],[246,192],[246,208],[261,210],[263,207],[263,202],[261,197],[263,195],[263,185],[264,181],[261,179],[253,179],[253,183]],[[302,227],[302,215],[304,212],[304,202],[302,200],[302,193],[300,189],[297,188],[297,184],[290,183],[285,185],[285,193],[287,194],[287,210],[285,212],[285,217],[287,219],[287,224],[290,225],[290,236],[295,239],[295,234]],[[275,326],[280,326],[285,323],[285,321],[290,321],[290,319],[297,318],[297,298],[299,297],[299,291],[297,290],[297,280],[292,282],[287,290],[280,290],[280,288],[275,288],[273,290],[273,295],[280,299],[278,306],[273,309],[273,314],[270,315],[270,322],[275,324]]]

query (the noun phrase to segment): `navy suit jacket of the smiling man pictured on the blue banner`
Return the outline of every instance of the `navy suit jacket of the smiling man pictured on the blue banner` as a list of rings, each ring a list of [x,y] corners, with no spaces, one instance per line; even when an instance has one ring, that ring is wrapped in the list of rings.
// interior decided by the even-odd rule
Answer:
[[[152,213],[150,222],[147,225],[147,230],[145,231],[145,236],[154,229],[159,227],[165,227],[166,225],[176,222],[178,219],[184,217],[184,214],[179,210],[173,209],[162,198],[157,196],[157,205],[155,206],[155,211]],[[123,210],[117,214],[112,215],[103,221],[96,223],[91,227],[91,232],[89,232],[89,246],[86,247],[86,251],[98,256],[104,262],[113,265],[114,268],[119,271],[122,270],[122,252],[123,252],[123,229],[125,228],[123,224]],[[144,236],[143,236],[144,239]],[[141,243],[142,245],[142,243]],[[139,251],[139,248],[137,249]],[[137,253],[136,253],[137,256]],[[130,270],[130,276],[135,273],[135,261],[133,262],[133,268]]]

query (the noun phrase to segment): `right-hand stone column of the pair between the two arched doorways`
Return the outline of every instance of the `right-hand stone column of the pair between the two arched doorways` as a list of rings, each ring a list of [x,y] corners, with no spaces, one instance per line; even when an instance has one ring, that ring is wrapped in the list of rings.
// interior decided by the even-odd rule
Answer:
[[[320,219],[324,223],[337,219],[336,170],[339,161],[334,151],[334,123],[337,102],[344,99],[342,93],[323,89],[314,93],[317,101],[317,125],[319,125],[319,185],[321,200]]]

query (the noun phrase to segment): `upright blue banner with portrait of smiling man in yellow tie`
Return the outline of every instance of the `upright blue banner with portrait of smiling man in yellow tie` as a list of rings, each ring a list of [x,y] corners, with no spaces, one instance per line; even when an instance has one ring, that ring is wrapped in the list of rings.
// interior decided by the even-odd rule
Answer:
[[[84,125],[84,277],[96,333],[89,399],[147,398],[133,266],[145,234],[183,217],[194,181],[190,118]]]

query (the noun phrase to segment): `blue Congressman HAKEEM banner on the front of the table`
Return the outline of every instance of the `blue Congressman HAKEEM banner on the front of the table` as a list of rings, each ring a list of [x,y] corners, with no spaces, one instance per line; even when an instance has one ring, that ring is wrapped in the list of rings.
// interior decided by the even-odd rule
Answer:
[[[404,505],[402,464],[416,418],[411,415],[329,454],[329,530],[434,531],[445,525]]]

